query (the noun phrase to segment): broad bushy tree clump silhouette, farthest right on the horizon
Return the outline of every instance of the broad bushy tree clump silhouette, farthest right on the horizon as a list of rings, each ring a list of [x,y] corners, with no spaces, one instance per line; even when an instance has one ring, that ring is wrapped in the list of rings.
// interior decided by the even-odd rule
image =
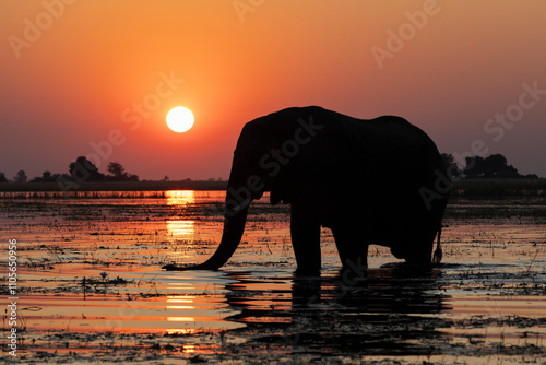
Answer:
[[[472,156],[466,157],[464,175],[468,178],[477,177],[523,177],[512,165],[508,165],[507,158],[501,154],[494,154],[488,157]]]

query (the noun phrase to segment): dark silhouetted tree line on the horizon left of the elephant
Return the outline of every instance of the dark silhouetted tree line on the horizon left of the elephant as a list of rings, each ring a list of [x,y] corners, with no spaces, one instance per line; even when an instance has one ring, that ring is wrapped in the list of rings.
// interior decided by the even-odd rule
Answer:
[[[35,177],[31,182],[56,182],[59,179],[69,181],[139,181],[139,176],[129,174],[118,162],[110,162],[106,167],[109,175],[98,172],[94,163],[84,156],[78,157],[69,165],[68,174],[51,174],[44,172],[40,177]],[[14,177],[13,182],[26,182],[27,176],[24,170],[20,170]],[[8,182],[5,174],[0,172],[0,182]]]

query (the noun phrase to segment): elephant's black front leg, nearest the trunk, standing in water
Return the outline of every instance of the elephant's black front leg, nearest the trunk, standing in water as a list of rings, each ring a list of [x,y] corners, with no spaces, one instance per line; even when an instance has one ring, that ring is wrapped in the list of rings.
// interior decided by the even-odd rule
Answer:
[[[320,224],[316,212],[305,204],[292,204],[290,235],[292,246],[298,269],[297,274],[318,275],[320,260]]]

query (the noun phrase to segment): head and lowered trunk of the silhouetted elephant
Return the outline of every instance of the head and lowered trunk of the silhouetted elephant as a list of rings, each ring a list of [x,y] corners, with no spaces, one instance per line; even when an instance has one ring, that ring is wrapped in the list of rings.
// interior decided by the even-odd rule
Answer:
[[[321,109],[321,108],[319,108]],[[298,111],[300,111],[298,114]],[[323,127],[312,114],[289,108],[248,122],[237,141],[226,190],[224,231],[214,255],[197,266],[165,266],[167,270],[217,270],[237,249],[250,202],[271,191],[271,202],[292,202],[296,158]],[[265,138],[264,138],[265,137]],[[287,180],[290,180],[289,182]]]

